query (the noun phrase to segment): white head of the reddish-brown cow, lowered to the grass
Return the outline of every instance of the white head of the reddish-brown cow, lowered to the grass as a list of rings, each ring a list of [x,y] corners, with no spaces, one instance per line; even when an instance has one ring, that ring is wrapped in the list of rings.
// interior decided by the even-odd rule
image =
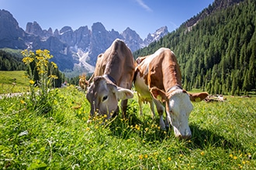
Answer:
[[[166,113],[168,121],[174,128],[175,137],[188,139],[192,134],[189,128],[189,114],[193,106],[189,100],[189,95],[185,90],[177,89],[165,93],[163,90],[153,87],[150,89],[153,97],[166,103]]]

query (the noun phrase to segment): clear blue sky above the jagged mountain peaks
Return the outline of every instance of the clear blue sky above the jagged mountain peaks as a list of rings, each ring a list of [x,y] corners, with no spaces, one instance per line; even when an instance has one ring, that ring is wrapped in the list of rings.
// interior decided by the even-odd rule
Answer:
[[[127,27],[142,39],[162,26],[171,32],[183,22],[207,8],[213,0],[0,0],[0,9],[8,10],[26,30],[36,21],[42,29],[78,29],[102,22],[106,30],[123,32]]]

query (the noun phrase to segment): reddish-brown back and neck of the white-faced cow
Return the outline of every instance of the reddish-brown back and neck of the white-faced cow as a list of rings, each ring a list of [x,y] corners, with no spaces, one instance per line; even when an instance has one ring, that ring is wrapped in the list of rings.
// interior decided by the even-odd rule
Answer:
[[[157,87],[161,90],[180,85],[182,75],[175,54],[167,48],[158,49],[156,53],[143,58],[137,66],[137,72],[144,74],[148,87]]]

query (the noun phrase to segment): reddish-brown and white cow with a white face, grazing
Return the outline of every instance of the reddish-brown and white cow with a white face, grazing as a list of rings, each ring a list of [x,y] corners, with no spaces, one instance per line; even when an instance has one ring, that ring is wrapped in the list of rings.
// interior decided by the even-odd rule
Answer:
[[[168,121],[174,128],[175,136],[191,138],[188,120],[193,106],[189,95],[193,94],[182,90],[182,74],[175,54],[170,49],[161,48],[150,56],[139,57],[137,64],[134,86],[138,93],[140,114],[142,102],[150,102],[153,114],[156,104],[160,126],[164,129],[165,104]]]

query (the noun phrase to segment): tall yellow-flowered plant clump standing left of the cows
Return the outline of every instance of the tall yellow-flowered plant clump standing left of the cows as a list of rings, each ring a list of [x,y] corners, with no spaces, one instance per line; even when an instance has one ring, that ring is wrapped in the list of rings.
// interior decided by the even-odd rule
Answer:
[[[47,49],[37,49],[36,53],[24,50],[22,56],[22,62],[27,66],[26,77],[29,79],[28,107],[37,114],[50,113],[57,93],[57,90],[51,90],[54,87],[54,80],[58,78],[53,74],[57,64],[49,62],[53,56]]]

